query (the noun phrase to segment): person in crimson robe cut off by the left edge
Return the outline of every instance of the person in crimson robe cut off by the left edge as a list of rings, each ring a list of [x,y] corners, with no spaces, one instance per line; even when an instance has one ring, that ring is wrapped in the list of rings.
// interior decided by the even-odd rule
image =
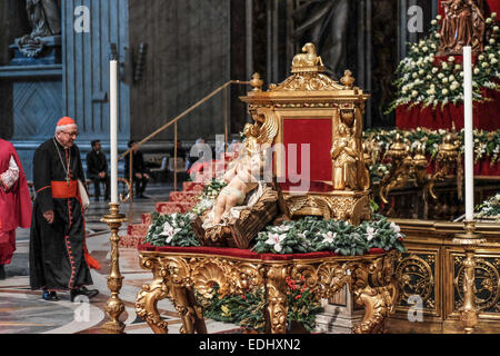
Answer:
[[[18,152],[0,139],[0,279],[16,251],[16,229],[31,225],[31,198]]]

